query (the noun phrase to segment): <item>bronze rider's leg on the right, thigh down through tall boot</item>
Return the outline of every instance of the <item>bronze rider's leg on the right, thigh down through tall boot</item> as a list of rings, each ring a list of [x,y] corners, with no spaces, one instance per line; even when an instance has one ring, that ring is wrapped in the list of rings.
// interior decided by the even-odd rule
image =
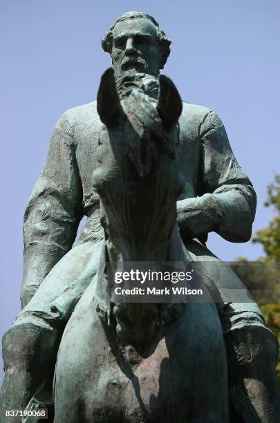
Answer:
[[[230,267],[199,242],[190,242],[187,250],[194,261],[205,267],[225,303],[224,307],[218,305],[218,312],[227,350],[232,422],[279,423],[277,337],[265,328],[261,310],[256,303],[249,302],[243,283]]]

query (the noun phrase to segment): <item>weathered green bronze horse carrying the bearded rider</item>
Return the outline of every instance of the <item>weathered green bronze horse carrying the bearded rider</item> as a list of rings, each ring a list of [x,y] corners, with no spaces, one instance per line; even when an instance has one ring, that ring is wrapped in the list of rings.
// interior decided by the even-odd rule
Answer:
[[[118,303],[108,263],[183,262],[176,223],[183,193],[173,82],[108,69],[93,187],[100,196],[100,267],[64,330],[55,423],[229,422],[227,361],[213,302]],[[203,285],[203,281],[201,281]]]

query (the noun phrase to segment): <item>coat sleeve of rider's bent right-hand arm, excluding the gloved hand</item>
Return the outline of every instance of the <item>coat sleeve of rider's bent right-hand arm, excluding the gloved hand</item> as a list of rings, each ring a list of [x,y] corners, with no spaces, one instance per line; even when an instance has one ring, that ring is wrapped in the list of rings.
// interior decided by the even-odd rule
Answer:
[[[199,130],[201,148],[200,194],[209,198],[219,216],[214,231],[232,242],[245,242],[252,234],[256,194],[230,147],[223,122],[209,111]]]

